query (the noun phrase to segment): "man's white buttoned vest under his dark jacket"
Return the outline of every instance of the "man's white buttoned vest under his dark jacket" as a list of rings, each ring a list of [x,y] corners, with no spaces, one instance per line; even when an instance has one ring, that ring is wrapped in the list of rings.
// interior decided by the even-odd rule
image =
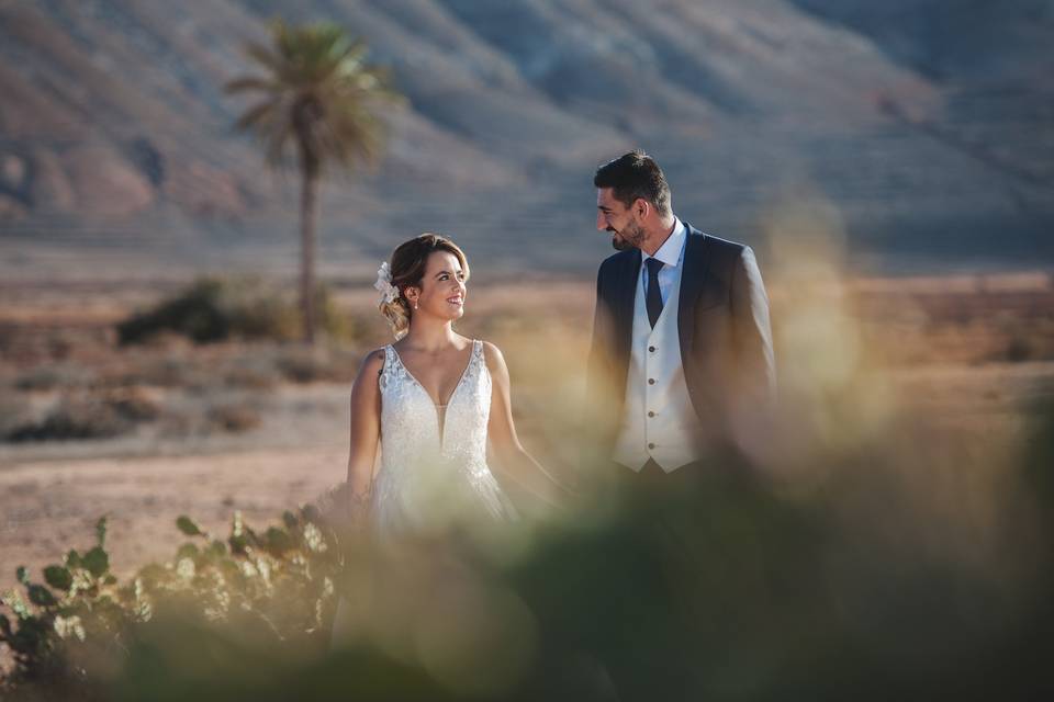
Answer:
[[[616,462],[633,471],[644,467],[649,457],[666,473],[700,457],[699,420],[684,381],[677,336],[683,272],[684,265],[679,265],[654,329],[648,321],[643,286],[636,281],[626,405],[614,454]]]

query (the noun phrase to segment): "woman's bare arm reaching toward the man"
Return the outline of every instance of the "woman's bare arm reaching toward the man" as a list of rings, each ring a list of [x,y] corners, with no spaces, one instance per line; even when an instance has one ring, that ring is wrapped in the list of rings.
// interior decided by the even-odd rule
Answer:
[[[551,505],[565,502],[570,491],[535,461],[519,443],[513,422],[513,404],[508,366],[493,343],[483,342],[483,355],[491,372],[491,419],[487,434],[498,461],[498,467],[528,491]]]

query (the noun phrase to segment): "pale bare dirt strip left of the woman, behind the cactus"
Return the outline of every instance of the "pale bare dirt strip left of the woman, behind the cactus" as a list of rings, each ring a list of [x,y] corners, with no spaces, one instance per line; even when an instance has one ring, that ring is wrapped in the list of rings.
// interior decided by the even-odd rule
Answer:
[[[203,456],[33,462],[0,469],[0,589],[20,565],[41,568],[69,548],[92,545],[109,514],[108,548],[117,574],[170,558],[182,543],[175,521],[193,517],[226,535],[234,510],[250,524],[312,500],[345,475],[338,448],[269,450]]]

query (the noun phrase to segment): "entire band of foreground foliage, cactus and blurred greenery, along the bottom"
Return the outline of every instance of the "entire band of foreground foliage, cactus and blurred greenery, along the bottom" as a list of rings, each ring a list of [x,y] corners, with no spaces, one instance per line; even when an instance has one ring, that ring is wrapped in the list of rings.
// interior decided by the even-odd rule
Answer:
[[[125,584],[101,523],[92,550],[46,568],[44,584],[20,571],[25,596],[4,596],[9,692],[1050,699],[1054,415],[1043,417],[976,539],[956,521],[976,506],[951,492],[934,502],[943,512],[911,505],[901,478],[935,469],[934,454],[883,442],[828,456],[841,469],[815,466],[827,477],[808,487],[722,461],[673,491],[599,487],[562,522],[385,552],[341,544],[312,508],[262,533],[235,518],[226,541],[181,518],[192,541]],[[329,652],[335,592],[352,626]]]

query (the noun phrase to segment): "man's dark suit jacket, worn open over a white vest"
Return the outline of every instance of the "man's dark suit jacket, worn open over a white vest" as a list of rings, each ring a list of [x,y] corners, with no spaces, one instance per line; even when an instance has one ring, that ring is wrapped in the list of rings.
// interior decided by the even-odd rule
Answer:
[[[677,332],[700,445],[749,452],[765,439],[775,398],[769,298],[750,247],[685,226]],[[640,265],[639,249],[619,251],[596,279],[586,382],[594,458],[610,458],[623,419]]]

